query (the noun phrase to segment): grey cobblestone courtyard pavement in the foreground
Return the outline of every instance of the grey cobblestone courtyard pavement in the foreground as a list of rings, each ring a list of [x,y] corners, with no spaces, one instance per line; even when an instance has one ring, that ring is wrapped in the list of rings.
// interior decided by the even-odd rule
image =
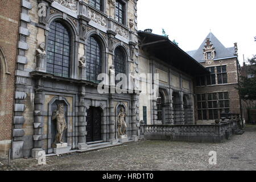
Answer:
[[[0,170],[256,170],[256,126],[224,143],[141,141],[85,153],[47,158],[46,165],[35,159],[16,159]],[[217,152],[217,164],[210,165],[209,151]]]

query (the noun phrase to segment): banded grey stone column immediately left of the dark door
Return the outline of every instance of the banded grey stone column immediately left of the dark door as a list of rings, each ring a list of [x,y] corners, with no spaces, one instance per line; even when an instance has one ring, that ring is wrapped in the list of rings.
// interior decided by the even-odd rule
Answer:
[[[85,150],[88,146],[86,144],[86,112],[85,112],[85,97],[84,94],[79,96],[79,113],[78,113],[78,144],[79,150]]]

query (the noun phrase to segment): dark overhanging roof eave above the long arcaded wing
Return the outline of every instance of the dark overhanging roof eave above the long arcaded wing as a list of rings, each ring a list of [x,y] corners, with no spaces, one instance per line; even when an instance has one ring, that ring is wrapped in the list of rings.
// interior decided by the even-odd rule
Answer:
[[[209,74],[210,72],[189,56],[167,37],[138,31],[141,44],[139,46],[149,55],[154,56],[167,64],[191,76]]]

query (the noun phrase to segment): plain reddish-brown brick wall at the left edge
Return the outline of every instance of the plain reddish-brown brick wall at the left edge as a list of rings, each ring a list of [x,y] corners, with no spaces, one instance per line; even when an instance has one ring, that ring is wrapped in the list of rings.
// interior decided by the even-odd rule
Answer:
[[[20,0],[0,1],[0,155],[11,148],[19,15]]]

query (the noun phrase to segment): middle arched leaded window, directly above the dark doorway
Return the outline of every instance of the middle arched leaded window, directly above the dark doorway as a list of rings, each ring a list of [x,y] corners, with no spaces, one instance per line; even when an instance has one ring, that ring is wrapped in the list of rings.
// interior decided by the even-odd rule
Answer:
[[[101,45],[97,39],[90,36],[86,49],[86,79],[88,81],[97,81],[98,75],[102,73],[102,51]]]

